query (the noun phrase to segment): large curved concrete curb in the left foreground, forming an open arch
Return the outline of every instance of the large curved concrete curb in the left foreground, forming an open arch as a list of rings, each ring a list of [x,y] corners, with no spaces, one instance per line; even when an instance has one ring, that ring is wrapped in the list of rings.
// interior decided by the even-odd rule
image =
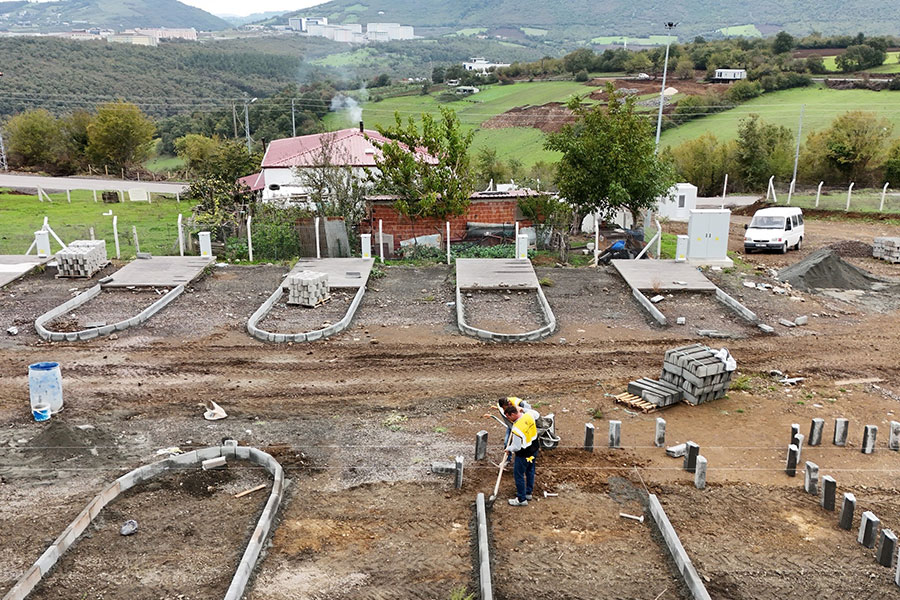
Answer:
[[[263,513],[256,523],[253,535],[247,543],[247,548],[244,550],[241,562],[238,564],[234,577],[231,580],[231,585],[228,587],[228,591],[225,594],[225,600],[240,600],[241,596],[244,594],[244,589],[247,587],[250,573],[253,571],[253,567],[256,566],[256,561],[262,550],[262,544],[269,534],[269,529],[272,527],[275,513],[278,512],[278,507],[281,504],[281,499],[284,495],[284,470],[281,468],[278,461],[262,450],[249,448],[247,446],[210,446],[209,448],[201,448],[200,450],[179,454],[172,458],[144,465],[143,467],[139,467],[122,475],[104,488],[102,492],[97,494],[93,500],[88,502],[87,506],[84,507],[84,510],[82,510],[78,516],[75,517],[75,520],[63,530],[60,536],[56,538],[56,541],[54,541],[31,568],[16,581],[16,584],[12,589],[3,596],[3,600],[24,600],[24,598],[27,598],[28,594],[34,589],[34,586],[36,586],[43,576],[53,568],[59,560],[59,557],[75,543],[75,540],[77,540],[82,533],[84,533],[84,530],[87,529],[88,525],[90,525],[97,515],[100,514],[100,511],[103,510],[107,504],[115,500],[119,494],[139,483],[152,479],[161,473],[172,470],[173,468],[199,465],[204,460],[217,458],[219,456],[249,460],[254,464],[264,467],[273,478],[272,492],[269,494],[269,500],[266,502],[266,507],[263,509]]]

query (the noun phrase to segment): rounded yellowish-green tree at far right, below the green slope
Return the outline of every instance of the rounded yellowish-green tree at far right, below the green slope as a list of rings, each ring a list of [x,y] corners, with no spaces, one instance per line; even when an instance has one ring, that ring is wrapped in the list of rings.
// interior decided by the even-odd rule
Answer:
[[[880,162],[892,131],[893,125],[875,113],[844,113],[825,131],[828,160],[850,181],[862,183],[868,179],[868,169]]]

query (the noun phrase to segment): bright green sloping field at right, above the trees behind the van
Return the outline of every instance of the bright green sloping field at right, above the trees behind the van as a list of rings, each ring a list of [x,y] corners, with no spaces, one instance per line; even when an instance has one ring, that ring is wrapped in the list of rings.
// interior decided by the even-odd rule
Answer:
[[[712,133],[719,140],[737,138],[738,124],[751,113],[768,122],[784,125],[797,131],[800,107],[803,113],[804,137],[811,131],[824,129],[835,117],[850,110],[865,110],[886,118],[900,133],[900,93],[873,92],[870,90],[832,90],[817,85],[781,92],[770,92],[740,106],[708,117],[685,123],[664,131],[660,140],[663,146],[677,146]]]

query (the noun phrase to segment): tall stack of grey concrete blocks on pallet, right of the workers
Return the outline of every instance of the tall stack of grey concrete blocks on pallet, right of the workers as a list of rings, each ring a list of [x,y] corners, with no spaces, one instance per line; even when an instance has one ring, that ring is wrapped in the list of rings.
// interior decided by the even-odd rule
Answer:
[[[725,396],[731,371],[702,344],[691,344],[666,352],[660,379],[681,390],[690,404],[702,404]]]

